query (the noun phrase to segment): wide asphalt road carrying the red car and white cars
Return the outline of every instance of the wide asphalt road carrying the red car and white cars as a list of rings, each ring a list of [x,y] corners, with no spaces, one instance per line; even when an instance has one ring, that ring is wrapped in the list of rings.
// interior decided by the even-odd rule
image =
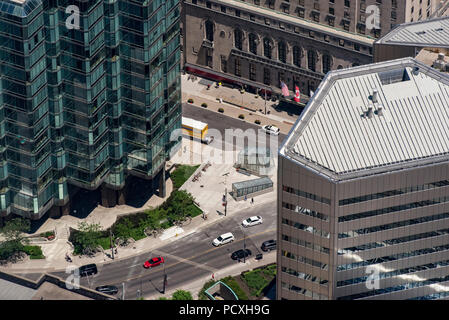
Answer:
[[[244,228],[243,233],[243,227],[240,226],[242,220],[253,215],[262,216],[263,224]],[[212,240],[225,232],[232,232],[235,241],[214,247]],[[231,254],[242,249],[244,244],[252,252],[250,259],[254,259],[257,253],[262,253],[262,243],[269,239],[276,239],[276,203],[259,206],[254,204],[250,209],[235,212],[218,223],[168,242],[153,252],[98,266],[98,274],[82,278],[81,284],[91,288],[115,285],[119,288],[117,296],[120,297],[122,283],[125,282],[125,299],[134,300],[138,290],[143,296],[159,294],[163,288],[164,272],[167,274],[166,290],[176,289],[198,278],[210,276],[217,270],[238,264],[238,261],[231,259]],[[152,269],[143,268],[146,260],[159,255],[165,259],[163,265]],[[64,276],[64,273],[56,274]]]

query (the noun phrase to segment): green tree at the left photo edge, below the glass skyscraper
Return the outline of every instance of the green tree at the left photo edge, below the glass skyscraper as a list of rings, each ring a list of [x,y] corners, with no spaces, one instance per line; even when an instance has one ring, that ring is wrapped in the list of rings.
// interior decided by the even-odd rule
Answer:
[[[23,233],[29,231],[30,221],[27,219],[16,218],[6,222],[0,230],[0,235],[4,239],[0,242],[0,260],[7,260],[23,251],[24,244],[28,243]]]

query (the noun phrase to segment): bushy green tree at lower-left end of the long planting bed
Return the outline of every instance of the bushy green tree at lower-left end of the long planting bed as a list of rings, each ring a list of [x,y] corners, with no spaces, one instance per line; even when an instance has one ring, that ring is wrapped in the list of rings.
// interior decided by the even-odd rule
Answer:
[[[102,228],[98,223],[80,222],[78,231],[73,233],[71,242],[76,253],[91,254],[97,250],[98,239],[101,238]]]

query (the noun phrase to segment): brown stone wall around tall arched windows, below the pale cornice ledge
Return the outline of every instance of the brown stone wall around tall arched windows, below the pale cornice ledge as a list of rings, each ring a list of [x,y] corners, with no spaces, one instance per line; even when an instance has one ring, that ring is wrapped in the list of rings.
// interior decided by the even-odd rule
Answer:
[[[298,85],[300,91],[308,95],[310,90],[318,87],[327,69],[347,68],[372,61],[371,44],[358,43],[355,39],[344,40],[333,33],[310,33],[306,28],[288,24],[281,28],[274,20],[267,25],[265,19],[270,19],[270,15],[251,17],[242,10],[238,17],[234,8],[226,7],[222,12],[221,6],[215,3],[208,8],[204,2],[194,4],[191,0],[184,2],[183,10],[184,63],[221,73],[224,77],[245,79],[254,83],[255,87],[268,85],[273,89],[279,88],[280,80],[283,80],[291,90]],[[207,24],[213,26],[212,46],[204,41]],[[242,34],[241,49],[236,47],[236,30]],[[250,50],[250,35],[255,36],[257,54]],[[271,59],[265,56],[264,39],[269,40]],[[286,47],[285,62],[279,57],[279,46],[282,44]],[[296,55],[296,52],[300,54]],[[313,58],[309,58],[309,54]]]

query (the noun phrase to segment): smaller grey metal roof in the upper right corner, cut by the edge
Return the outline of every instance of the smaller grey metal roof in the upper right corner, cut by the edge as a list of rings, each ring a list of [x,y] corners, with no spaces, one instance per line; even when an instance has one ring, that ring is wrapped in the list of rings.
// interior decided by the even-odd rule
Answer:
[[[449,48],[449,17],[400,24],[375,43]]]

